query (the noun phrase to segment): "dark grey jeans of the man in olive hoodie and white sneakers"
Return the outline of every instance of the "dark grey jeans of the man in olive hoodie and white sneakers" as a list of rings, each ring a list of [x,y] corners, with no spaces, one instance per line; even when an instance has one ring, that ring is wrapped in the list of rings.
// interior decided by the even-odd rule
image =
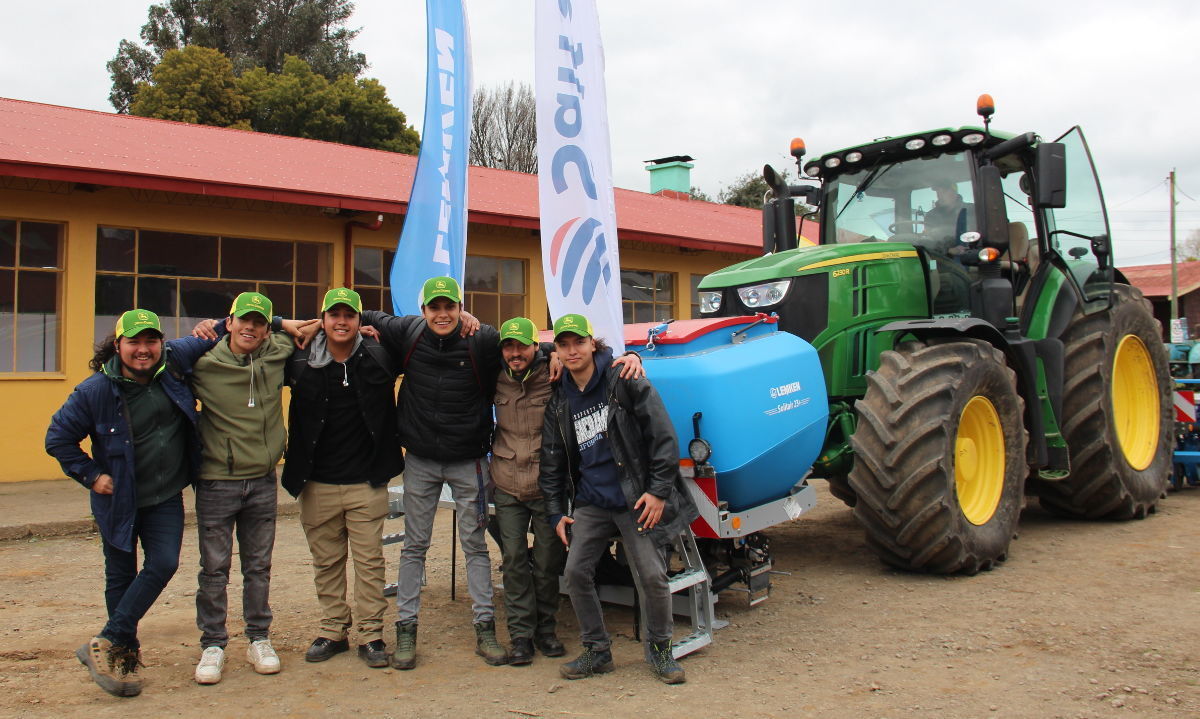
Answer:
[[[241,615],[246,637],[266,639],[271,628],[271,550],[275,549],[275,513],[278,505],[275,472],[259,479],[202,479],[196,485],[196,528],[200,538],[199,587],[196,589],[196,627],[200,646],[229,642],[229,567],[233,534],[241,558]]]

